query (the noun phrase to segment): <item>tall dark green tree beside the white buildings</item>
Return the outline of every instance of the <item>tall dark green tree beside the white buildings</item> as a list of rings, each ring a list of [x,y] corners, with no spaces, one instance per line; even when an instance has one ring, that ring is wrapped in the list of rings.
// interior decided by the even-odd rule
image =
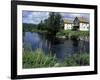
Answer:
[[[56,12],[50,12],[49,18],[48,18],[48,31],[52,35],[56,35],[58,31],[62,28],[63,19],[62,16],[59,13]]]

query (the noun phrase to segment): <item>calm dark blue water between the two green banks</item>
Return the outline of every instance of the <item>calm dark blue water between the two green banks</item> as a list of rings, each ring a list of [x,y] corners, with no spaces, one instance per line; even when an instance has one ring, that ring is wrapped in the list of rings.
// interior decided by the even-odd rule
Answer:
[[[42,48],[43,51],[48,54],[50,51],[56,54],[58,59],[64,59],[66,56],[79,52],[89,53],[89,42],[79,40],[61,40],[56,44],[52,44],[45,36],[39,33],[25,32],[23,43],[24,47],[29,50],[36,50]]]

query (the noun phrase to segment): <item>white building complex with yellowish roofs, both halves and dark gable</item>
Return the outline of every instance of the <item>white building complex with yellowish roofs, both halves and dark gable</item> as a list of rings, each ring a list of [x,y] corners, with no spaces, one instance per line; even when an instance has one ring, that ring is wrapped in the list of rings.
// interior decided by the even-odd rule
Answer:
[[[89,21],[84,17],[76,17],[73,21],[64,20],[64,29],[75,29],[80,31],[88,31],[89,30]]]

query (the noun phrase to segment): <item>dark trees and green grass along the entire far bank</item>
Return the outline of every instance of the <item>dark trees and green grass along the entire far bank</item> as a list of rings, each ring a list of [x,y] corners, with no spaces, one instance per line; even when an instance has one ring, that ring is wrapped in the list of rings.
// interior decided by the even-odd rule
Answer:
[[[38,32],[45,33],[46,36],[65,37],[65,38],[79,38],[89,37],[89,31],[79,31],[77,29],[64,30],[64,21],[62,16],[56,12],[50,12],[49,17],[41,20],[38,24],[23,23],[24,32]]]

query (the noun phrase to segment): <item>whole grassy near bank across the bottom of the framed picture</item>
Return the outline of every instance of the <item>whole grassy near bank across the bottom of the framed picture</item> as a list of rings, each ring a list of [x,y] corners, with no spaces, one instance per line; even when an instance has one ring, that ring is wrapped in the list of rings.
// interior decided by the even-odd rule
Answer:
[[[43,50],[37,49],[34,52],[23,52],[23,68],[42,68],[42,67],[64,67],[89,65],[89,54],[74,54],[59,62],[56,56],[45,55]]]

